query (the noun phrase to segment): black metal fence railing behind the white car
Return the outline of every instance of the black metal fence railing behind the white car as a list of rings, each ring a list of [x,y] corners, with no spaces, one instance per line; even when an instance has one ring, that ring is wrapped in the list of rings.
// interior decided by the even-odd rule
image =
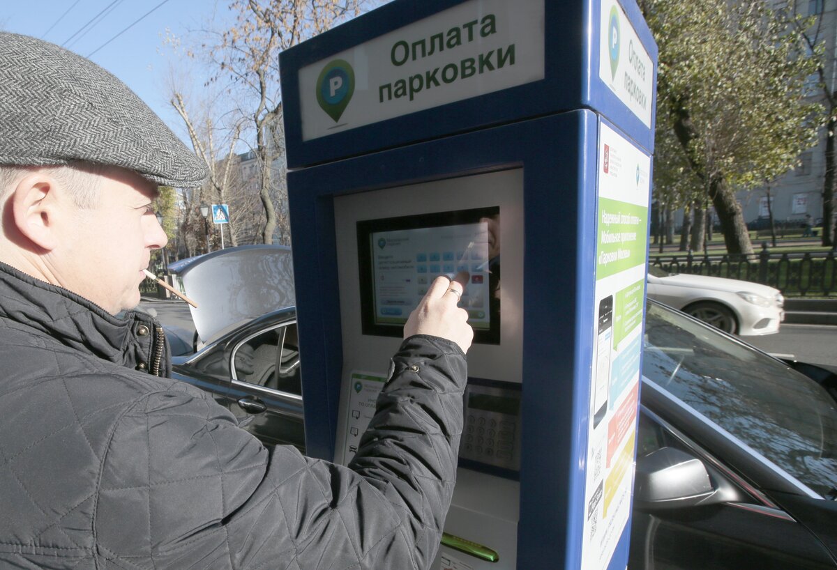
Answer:
[[[671,273],[693,273],[763,283],[790,297],[837,294],[834,251],[652,257],[651,265]]]

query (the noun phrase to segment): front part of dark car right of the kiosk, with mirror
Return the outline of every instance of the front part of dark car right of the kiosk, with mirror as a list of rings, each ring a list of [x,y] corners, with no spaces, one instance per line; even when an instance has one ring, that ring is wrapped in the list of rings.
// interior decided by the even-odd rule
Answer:
[[[828,391],[653,302],[643,354],[629,567],[837,567]]]

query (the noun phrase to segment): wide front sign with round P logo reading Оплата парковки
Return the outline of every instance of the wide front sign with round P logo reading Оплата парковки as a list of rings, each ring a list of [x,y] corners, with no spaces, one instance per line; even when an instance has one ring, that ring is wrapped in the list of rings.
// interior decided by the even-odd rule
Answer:
[[[471,0],[299,72],[302,140],[544,78],[544,0]]]

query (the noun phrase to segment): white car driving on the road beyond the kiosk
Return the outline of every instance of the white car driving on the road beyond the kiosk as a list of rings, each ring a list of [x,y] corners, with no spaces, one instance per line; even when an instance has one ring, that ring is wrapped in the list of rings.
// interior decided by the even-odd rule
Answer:
[[[648,270],[648,297],[742,336],[779,332],[784,298],[778,289],[737,279]]]

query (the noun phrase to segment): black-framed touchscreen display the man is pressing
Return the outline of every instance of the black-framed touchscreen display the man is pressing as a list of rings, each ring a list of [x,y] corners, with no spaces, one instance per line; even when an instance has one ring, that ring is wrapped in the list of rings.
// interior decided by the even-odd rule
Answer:
[[[500,326],[500,208],[357,222],[363,332],[399,336],[435,277],[468,272],[460,307],[475,342]]]

